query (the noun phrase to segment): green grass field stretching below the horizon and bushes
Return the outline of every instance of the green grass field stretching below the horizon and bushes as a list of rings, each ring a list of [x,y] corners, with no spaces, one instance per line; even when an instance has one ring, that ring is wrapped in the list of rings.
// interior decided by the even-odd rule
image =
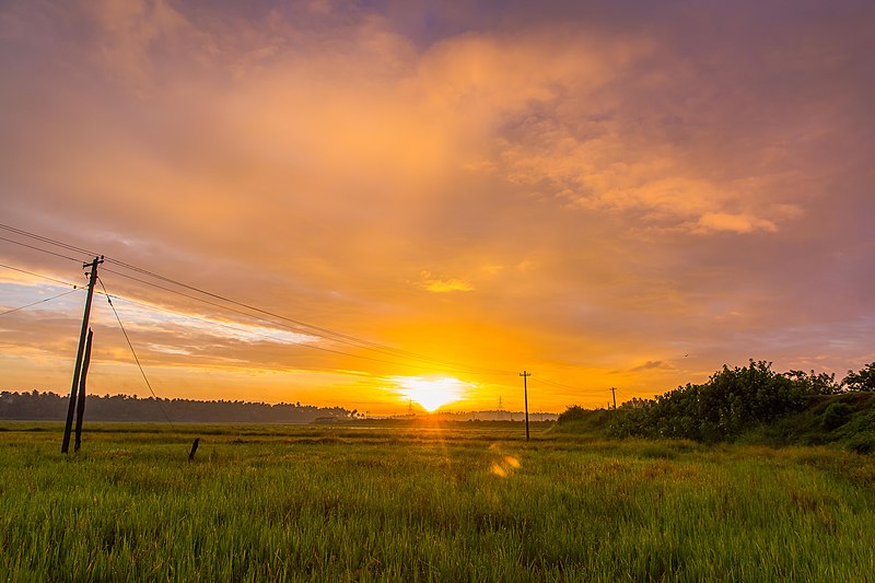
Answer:
[[[0,423],[0,580],[875,581],[871,456],[521,436]]]

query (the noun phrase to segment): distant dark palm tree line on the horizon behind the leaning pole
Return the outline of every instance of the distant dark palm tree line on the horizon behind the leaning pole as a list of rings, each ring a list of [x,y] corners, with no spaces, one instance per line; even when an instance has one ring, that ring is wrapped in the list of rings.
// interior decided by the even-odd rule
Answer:
[[[54,393],[0,393],[0,419],[61,420],[68,397]],[[355,411],[342,407],[314,407],[296,403],[269,405],[242,400],[145,399],[128,395],[88,397],[90,421],[154,421],[203,423],[308,423],[317,418],[349,418]],[[166,416],[165,417],[165,412]]]

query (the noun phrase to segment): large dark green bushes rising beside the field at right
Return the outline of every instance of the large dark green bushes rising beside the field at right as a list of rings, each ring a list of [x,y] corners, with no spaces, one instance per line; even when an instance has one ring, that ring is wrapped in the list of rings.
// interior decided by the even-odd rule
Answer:
[[[714,373],[653,399],[633,398],[616,411],[569,407],[559,432],[595,436],[733,441],[771,445],[838,444],[858,453],[875,451],[875,363],[833,374],[777,373],[771,363]]]

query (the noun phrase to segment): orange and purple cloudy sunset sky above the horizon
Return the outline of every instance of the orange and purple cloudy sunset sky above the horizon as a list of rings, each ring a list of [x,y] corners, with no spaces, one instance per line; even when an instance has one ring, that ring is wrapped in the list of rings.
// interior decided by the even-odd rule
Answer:
[[[430,382],[521,410],[527,370],[558,412],[749,358],[842,377],[875,361],[873,23],[871,1],[3,2],[0,223],[275,314],[101,266],[161,397],[386,415]],[[88,253],[0,237],[0,312],[85,282]],[[83,304],[0,316],[0,389],[69,392]],[[93,328],[90,390],[148,396],[104,296]]]

